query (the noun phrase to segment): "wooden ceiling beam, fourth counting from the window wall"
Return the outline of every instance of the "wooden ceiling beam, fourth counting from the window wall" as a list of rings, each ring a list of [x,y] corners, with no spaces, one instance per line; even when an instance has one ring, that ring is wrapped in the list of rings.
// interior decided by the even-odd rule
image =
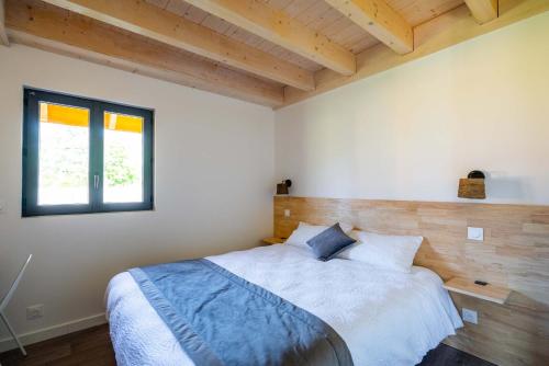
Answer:
[[[414,50],[414,31],[384,0],[325,0],[397,54]]]

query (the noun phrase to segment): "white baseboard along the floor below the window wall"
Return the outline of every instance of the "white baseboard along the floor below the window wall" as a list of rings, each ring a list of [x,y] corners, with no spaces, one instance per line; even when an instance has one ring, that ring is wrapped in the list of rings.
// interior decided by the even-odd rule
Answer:
[[[102,312],[96,316],[76,319],[68,321],[66,323],[38,329],[36,331],[32,331],[24,334],[19,334],[19,339],[21,340],[21,343],[23,343],[23,345],[27,345],[49,340],[59,335],[65,335],[72,332],[81,331],[87,328],[101,325],[104,323],[107,323],[107,318],[104,312]],[[18,345],[15,344],[15,341],[13,341],[11,338],[5,338],[0,340],[0,352],[5,352],[16,347]]]

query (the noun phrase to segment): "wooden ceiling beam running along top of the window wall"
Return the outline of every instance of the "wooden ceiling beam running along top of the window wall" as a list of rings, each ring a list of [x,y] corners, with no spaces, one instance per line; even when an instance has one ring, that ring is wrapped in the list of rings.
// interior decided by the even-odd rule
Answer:
[[[5,25],[13,43],[257,104],[277,106],[283,102],[280,84],[37,0],[7,0]]]

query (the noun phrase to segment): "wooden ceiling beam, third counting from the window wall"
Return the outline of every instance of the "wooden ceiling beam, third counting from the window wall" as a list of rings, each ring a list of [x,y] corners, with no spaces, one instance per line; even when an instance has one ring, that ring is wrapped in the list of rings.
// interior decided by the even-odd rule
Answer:
[[[355,55],[258,0],[186,0],[215,16],[343,75],[356,70]]]

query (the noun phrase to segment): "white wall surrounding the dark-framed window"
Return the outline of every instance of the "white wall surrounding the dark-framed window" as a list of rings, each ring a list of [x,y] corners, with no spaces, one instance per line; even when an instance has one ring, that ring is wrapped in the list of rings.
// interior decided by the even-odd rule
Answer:
[[[156,210],[22,219],[23,85],[155,108]],[[8,311],[18,333],[103,312],[107,283],[124,268],[249,248],[270,236],[273,134],[266,107],[0,47],[0,298],[27,253],[35,255]],[[44,304],[45,317],[26,321],[34,304]]]

